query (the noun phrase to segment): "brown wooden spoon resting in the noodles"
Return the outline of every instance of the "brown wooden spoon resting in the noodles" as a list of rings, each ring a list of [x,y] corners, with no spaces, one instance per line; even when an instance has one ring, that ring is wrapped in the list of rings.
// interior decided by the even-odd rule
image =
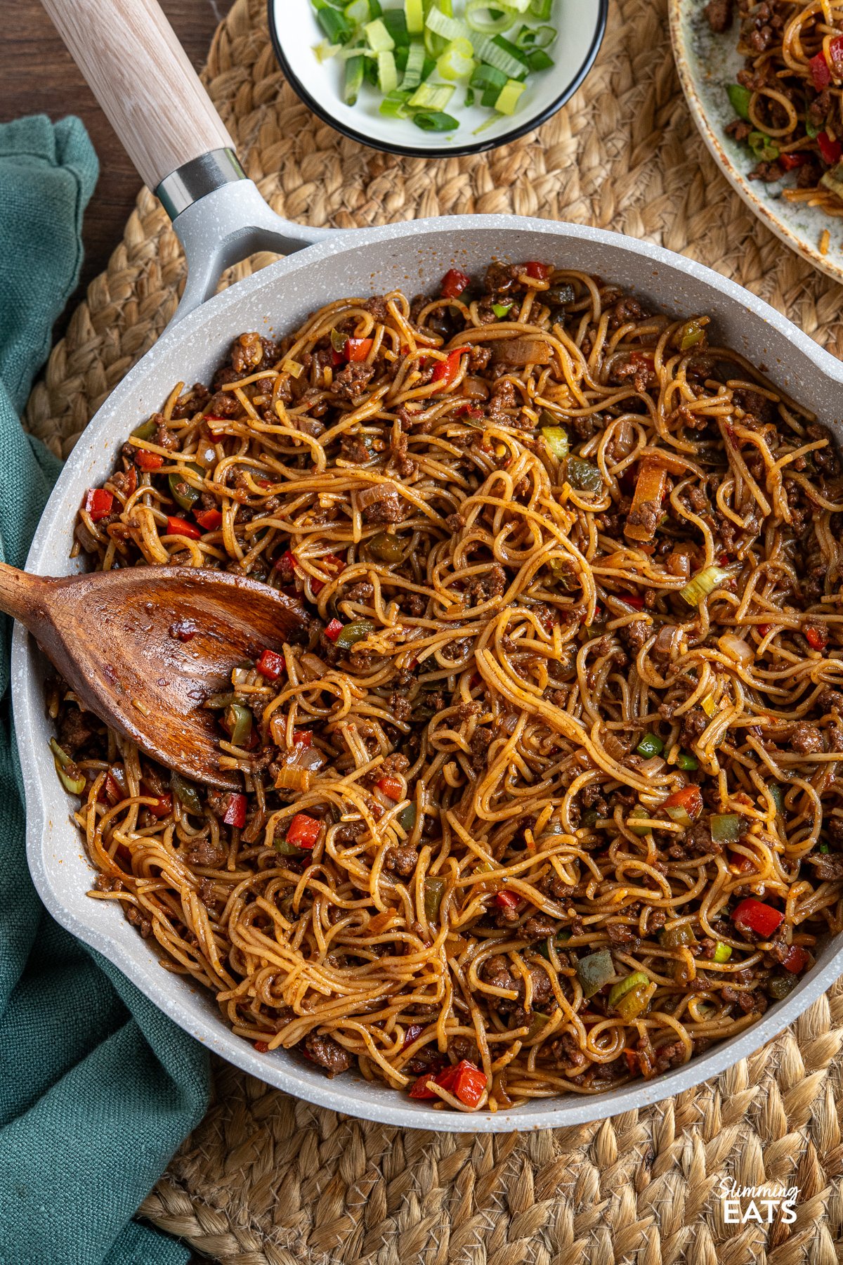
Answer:
[[[186,778],[236,789],[202,707],[231,669],[301,639],[307,614],[254,579],[195,567],[49,578],[0,563],[0,611],[33,634],[82,706]]]

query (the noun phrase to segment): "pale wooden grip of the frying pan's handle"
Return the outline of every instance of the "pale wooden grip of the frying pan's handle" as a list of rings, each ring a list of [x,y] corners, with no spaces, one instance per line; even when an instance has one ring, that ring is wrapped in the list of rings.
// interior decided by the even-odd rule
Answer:
[[[42,0],[149,188],[234,148],[157,0]]]

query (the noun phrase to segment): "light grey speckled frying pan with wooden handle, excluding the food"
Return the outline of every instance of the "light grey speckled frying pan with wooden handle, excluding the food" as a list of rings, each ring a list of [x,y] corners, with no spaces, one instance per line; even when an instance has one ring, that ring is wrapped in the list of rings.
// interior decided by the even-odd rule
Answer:
[[[784,316],[709,268],[646,242],[578,224],[465,215],[344,233],[289,224],[263,202],[236,163],[231,140],[154,0],[44,0],[140,175],[173,216],[188,261],[176,318],[123,379],[73,449],[47,505],[28,568],[67,574],[83,491],[111,471],[129,431],[178,381],[209,381],[243,330],[289,330],[345,295],[425,290],[452,266],[546,259],[610,278],[671,315],[705,312],[729,343],[838,434],[843,366]],[[287,258],[212,296],[222,268],[257,249]],[[14,715],[27,789],[28,859],[44,904],[105,954],[197,1040],[291,1094],[367,1120],[416,1128],[498,1132],[578,1125],[689,1089],[751,1054],[792,1022],[843,972],[843,936],[832,940],[796,989],[746,1032],[653,1082],[612,1093],[537,1099],[495,1114],[431,1112],[423,1102],[350,1073],[327,1080],[294,1054],[255,1052],[222,1025],[209,993],[159,965],[154,947],[114,904],[86,896],[91,869],[70,820],[48,751],[45,664],[21,626],[13,645]]]

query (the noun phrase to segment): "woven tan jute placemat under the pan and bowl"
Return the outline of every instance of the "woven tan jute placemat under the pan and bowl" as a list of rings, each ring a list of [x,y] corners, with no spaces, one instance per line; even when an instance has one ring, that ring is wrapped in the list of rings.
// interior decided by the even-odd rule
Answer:
[[[316,120],[276,66],[263,0],[231,10],[206,78],[249,175],[289,219],[350,228],[500,211],[597,224],[719,268],[843,354],[840,287],[751,216],[696,137],[665,0],[613,0],[597,67],[569,106],[473,158],[379,154]],[[182,280],[178,243],[144,191],[32,395],[28,424],[57,453],[154,343]],[[838,985],[696,1090],[523,1136],[385,1128],[219,1065],[215,1106],[142,1213],[229,1265],[833,1265],[842,1045]],[[731,1222],[724,1180],[799,1187],[795,1221]]]

